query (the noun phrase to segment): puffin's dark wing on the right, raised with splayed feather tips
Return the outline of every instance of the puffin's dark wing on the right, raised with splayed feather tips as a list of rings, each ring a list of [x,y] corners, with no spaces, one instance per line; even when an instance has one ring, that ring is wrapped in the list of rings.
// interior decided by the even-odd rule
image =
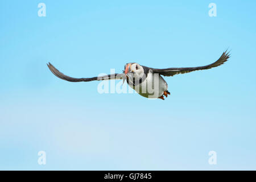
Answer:
[[[166,68],[166,69],[154,69],[152,68],[154,73],[159,73],[160,75],[163,76],[174,76],[177,74],[182,74],[182,73],[189,73],[197,70],[202,70],[202,69],[210,69],[214,67],[218,67],[219,65],[225,63],[229,59],[230,55],[229,52],[225,51],[222,53],[220,58],[209,65],[203,66],[203,67],[190,67],[190,68]]]

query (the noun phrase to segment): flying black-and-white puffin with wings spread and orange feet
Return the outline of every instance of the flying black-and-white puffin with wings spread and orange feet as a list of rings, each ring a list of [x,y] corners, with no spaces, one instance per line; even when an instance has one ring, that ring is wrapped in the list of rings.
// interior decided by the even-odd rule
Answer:
[[[133,88],[138,94],[146,98],[160,98],[164,100],[164,96],[170,95],[168,84],[162,76],[174,76],[177,74],[189,73],[197,70],[210,69],[224,64],[230,57],[230,53],[222,53],[220,58],[212,64],[201,67],[183,67],[183,68],[150,68],[138,63],[127,63],[123,73],[114,73],[110,75],[90,77],[90,78],[73,78],[61,73],[51,63],[47,66],[53,75],[71,82],[88,82],[101,80],[123,80]]]

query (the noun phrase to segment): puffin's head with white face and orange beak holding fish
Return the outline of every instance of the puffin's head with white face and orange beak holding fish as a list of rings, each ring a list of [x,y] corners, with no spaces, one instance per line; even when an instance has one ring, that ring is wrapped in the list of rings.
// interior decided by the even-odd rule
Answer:
[[[125,75],[129,77],[133,76],[134,78],[141,78],[144,74],[144,69],[138,63],[127,63],[125,65],[125,71],[123,71]]]

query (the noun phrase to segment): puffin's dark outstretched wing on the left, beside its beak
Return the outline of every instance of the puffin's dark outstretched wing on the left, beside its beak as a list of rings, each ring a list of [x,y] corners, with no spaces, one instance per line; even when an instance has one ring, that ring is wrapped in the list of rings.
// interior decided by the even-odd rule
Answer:
[[[94,81],[94,80],[119,80],[122,79],[123,74],[112,74],[112,75],[104,75],[104,76],[99,76],[99,77],[92,77],[92,78],[73,78],[73,77],[69,77],[67,75],[64,75],[63,73],[61,73],[59,70],[57,70],[55,67],[53,67],[53,65],[51,63],[47,64],[49,70],[51,70],[51,72],[56,76],[59,77],[63,80],[67,80],[67,81],[71,81],[71,82],[79,82],[79,81]]]

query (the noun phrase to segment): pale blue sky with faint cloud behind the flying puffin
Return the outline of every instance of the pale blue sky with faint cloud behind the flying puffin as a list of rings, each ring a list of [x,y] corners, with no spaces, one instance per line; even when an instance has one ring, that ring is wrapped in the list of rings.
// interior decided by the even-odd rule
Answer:
[[[46,17],[38,4],[46,4]],[[209,17],[209,3],[217,16]],[[0,169],[256,169],[255,1],[1,1]],[[165,101],[99,94],[73,77],[221,67],[165,77]],[[208,152],[217,164],[208,164]],[[38,152],[46,151],[46,165]]]

